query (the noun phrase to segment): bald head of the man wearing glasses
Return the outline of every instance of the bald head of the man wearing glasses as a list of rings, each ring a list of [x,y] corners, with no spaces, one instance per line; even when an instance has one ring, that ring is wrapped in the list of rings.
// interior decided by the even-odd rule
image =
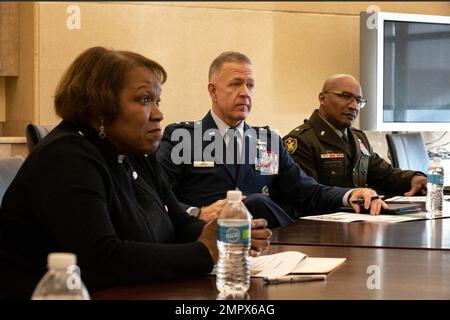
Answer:
[[[358,80],[350,74],[335,74],[325,80],[319,94],[319,114],[336,129],[350,127],[359,113],[353,97],[361,97]]]

